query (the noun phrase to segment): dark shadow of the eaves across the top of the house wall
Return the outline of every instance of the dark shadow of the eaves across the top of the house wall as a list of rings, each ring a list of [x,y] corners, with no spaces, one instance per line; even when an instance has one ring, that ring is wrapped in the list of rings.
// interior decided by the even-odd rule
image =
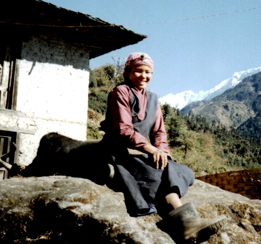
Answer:
[[[70,32],[75,35],[77,31]],[[6,38],[1,43],[0,62],[25,59],[33,62],[32,69],[38,62],[89,70],[89,47],[77,39],[68,38],[70,33],[58,36],[45,29],[29,31],[8,26],[1,27],[1,33]]]

